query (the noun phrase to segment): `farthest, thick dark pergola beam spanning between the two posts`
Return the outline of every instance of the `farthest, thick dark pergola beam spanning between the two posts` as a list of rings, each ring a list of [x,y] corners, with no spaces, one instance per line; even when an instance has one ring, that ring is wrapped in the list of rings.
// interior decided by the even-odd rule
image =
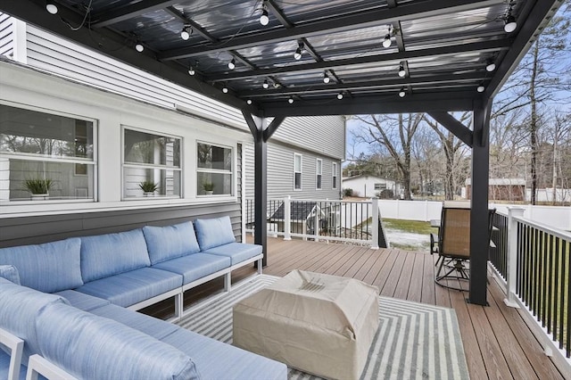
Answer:
[[[405,100],[406,99],[406,100]],[[364,115],[377,113],[410,113],[434,110],[441,112],[471,111],[474,104],[474,91],[446,92],[439,94],[412,94],[400,98],[396,94],[353,98],[336,98],[328,103],[323,101],[271,102],[258,104],[264,116],[327,116]]]

